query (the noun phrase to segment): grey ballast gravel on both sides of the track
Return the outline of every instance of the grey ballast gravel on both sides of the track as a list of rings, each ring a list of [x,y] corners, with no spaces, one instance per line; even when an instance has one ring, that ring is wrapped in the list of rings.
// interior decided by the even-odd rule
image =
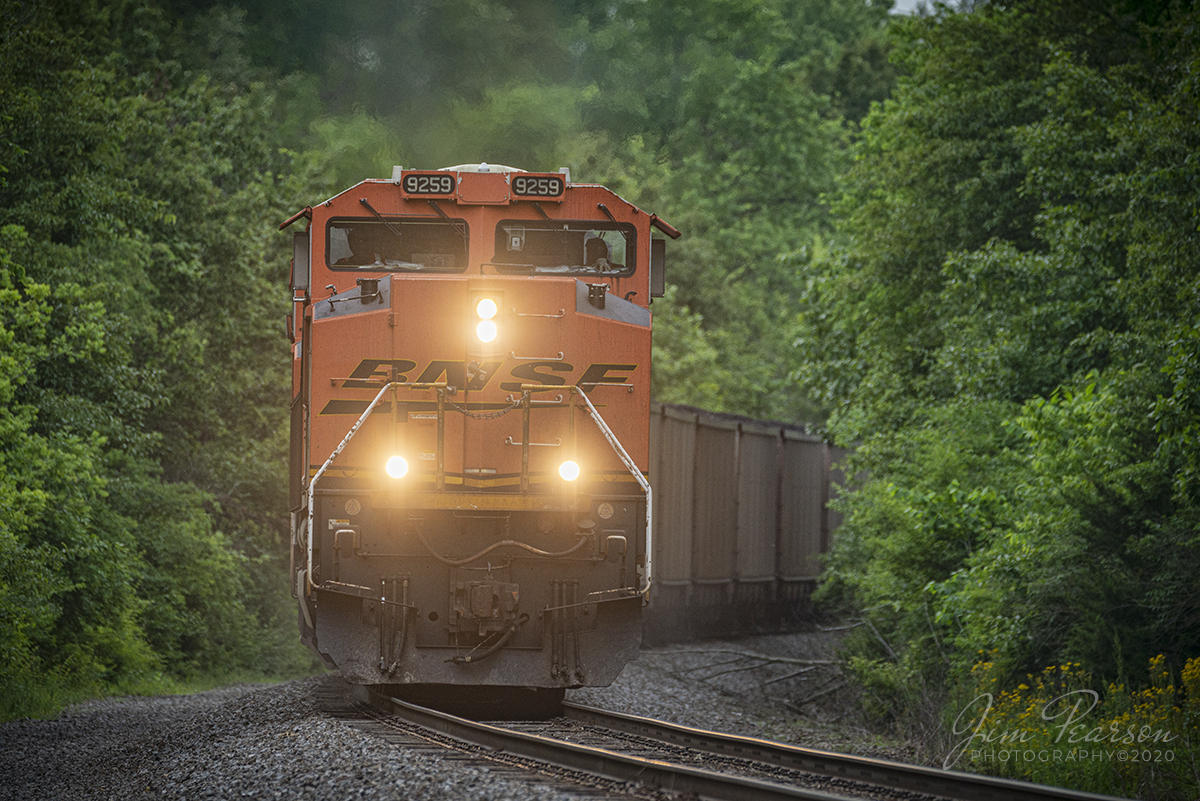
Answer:
[[[803,636],[649,649],[612,687],[572,691],[568,699],[725,731],[811,740],[815,718],[799,725],[804,707],[788,709],[784,695],[770,694],[799,692],[767,677],[794,666],[768,662],[721,674],[728,669],[721,664],[736,656],[730,651],[811,650]],[[318,695],[330,680],[106,699],[53,721],[6,723],[0,800],[598,797],[595,789],[564,790],[456,752],[392,746],[324,711]],[[845,745],[816,740],[804,745]]]

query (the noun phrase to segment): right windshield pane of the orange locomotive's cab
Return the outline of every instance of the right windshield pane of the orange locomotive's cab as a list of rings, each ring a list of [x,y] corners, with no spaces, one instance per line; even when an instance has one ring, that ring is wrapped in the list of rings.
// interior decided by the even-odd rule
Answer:
[[[636,233],[625,223],[505,219],[496,227],[500,272],[617,275],[634,272]]]

